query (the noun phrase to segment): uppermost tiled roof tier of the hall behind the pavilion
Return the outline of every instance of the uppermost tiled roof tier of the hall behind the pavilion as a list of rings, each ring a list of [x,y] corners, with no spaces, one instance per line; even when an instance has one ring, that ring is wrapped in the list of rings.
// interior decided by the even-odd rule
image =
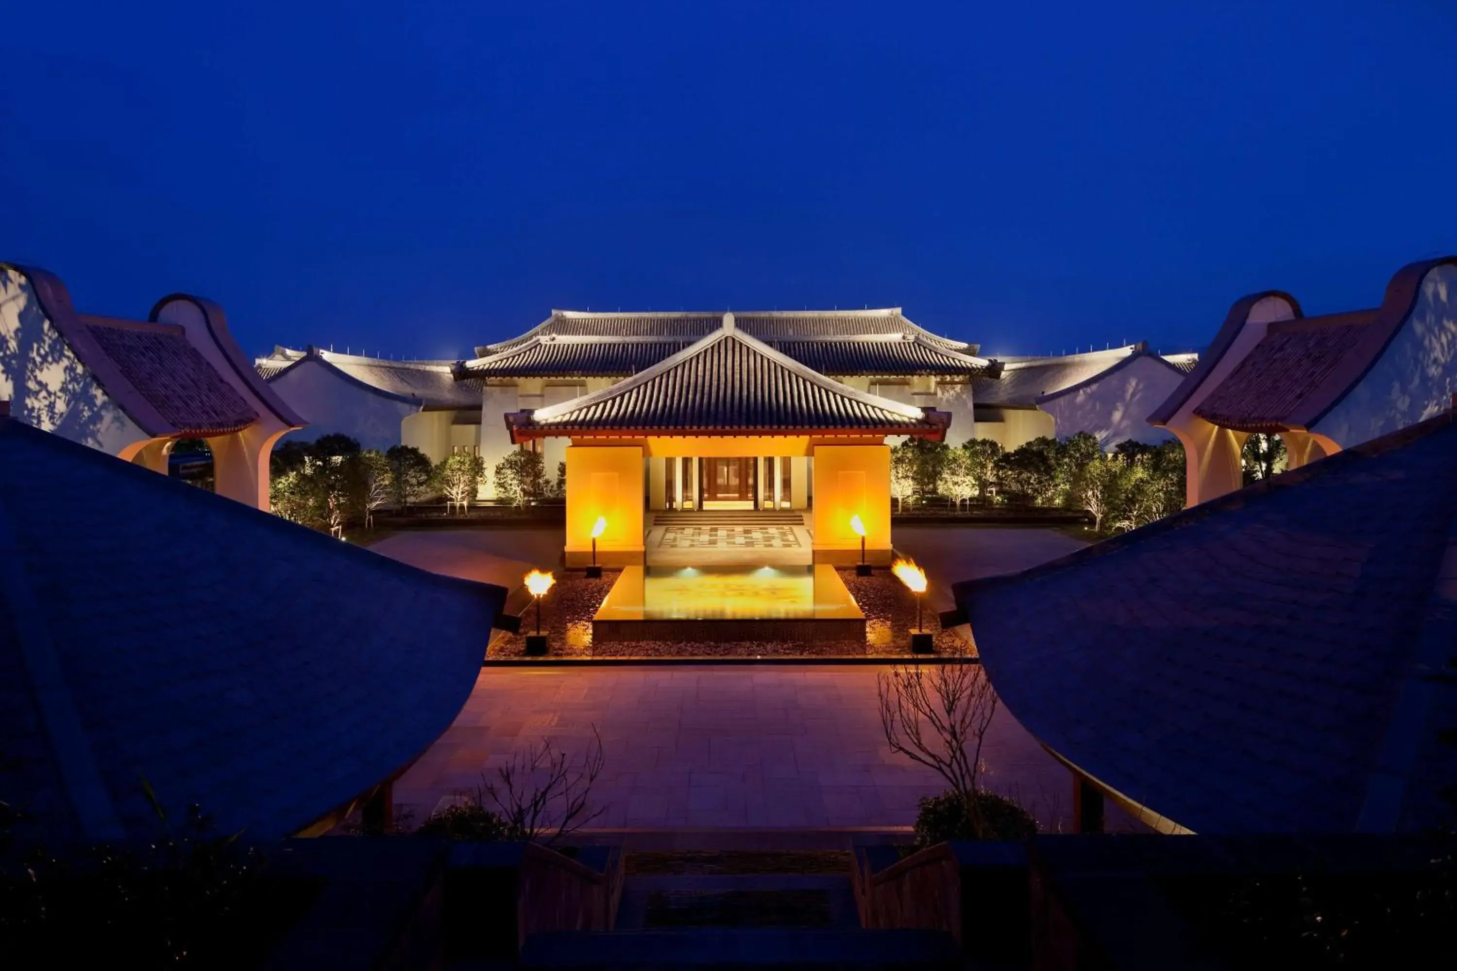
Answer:
[[[686,338],[696,341],[718,329],[723,312],[685,313],[592,313],[552,310],[551,317],[526,333],[491,345],[492,354],[520,346],[535,336]],[[737,326],[761,341],[793,336],[844,336],[868,333],[914,333],[937,346],[962,354],[975,349],[962,341],[931,333],[906,319],[900,307],[877,310],[746,310],[734,312]]]

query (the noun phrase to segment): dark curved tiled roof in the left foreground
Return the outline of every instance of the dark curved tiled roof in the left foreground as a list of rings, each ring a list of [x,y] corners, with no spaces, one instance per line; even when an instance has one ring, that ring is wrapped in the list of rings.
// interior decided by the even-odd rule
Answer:
[[[4,798],[48,841],[154,833],[143,779],[296,831],[450,725],[504,594],[0,419]]]

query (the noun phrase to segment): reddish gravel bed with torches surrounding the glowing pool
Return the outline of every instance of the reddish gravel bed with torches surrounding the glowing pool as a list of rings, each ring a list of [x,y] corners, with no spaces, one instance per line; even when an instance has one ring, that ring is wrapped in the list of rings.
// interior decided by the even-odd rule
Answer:
[[[841,569],[855,603],[865,614],[865,641],[628,641],[592,643],[592,616],[606,598],[622,571],[605,569],[602,579],[587,579],[571,572],[559,576],[557,585],[542,600],[542,633],[548,638],[549,654],[559,658],[909,658],[911,630],[915,627],[915,595],[890,571],[877,569],[871,576],[857,576],[854,569]],[[935,633],[937,654],[969,651],[966,641],[953,630],[941,630],[937,613],[924,613],[925,629]],[[522,633],[497,632],[487,657],[491,659],[523,658],[525,635],[536,630],[535,607],[522,617]]]

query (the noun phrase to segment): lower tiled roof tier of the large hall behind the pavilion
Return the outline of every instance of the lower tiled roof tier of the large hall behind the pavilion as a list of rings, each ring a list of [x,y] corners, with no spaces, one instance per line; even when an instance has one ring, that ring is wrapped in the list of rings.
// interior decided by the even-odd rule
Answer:
[[[736,317],[737,320],[737,317]],[[622,377],[678,354],[692,339],[535,336],[508,351],[468,362],[478,377]],[[851,338],[765,339],[822,374],[981,374],[986,361],[902,332]]]

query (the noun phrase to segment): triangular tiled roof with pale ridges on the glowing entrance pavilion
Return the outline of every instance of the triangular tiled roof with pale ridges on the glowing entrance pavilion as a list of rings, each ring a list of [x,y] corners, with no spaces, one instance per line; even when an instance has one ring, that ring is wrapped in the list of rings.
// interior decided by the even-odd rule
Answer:
[[[803,429],[938,435],[946,428],[941,413],[857,392],[734,325],[602,392],[507,415],[513,435]]]

